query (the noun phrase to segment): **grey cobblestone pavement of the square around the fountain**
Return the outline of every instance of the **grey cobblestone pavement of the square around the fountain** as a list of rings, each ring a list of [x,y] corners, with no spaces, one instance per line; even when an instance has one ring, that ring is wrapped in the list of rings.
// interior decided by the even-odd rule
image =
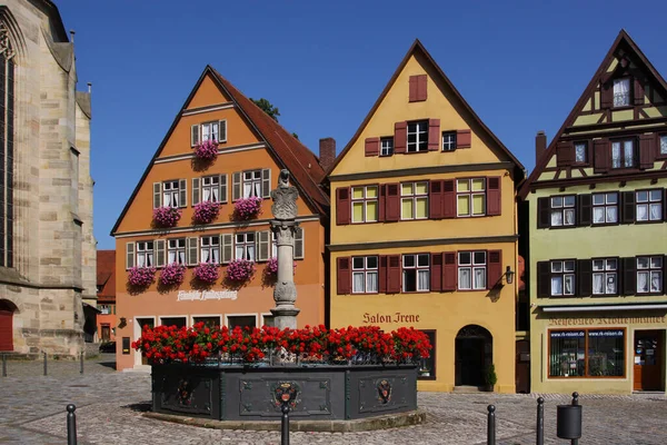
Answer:
[[[41,376],[39,364],[9,363],[0,377],[0,444],[58,444],[66,437],[68,403],[77,405],[79,444],[279,444],[278,432],[216,431],[141,416],[148,409],[148,374],[116,373],[107,358],[87,362],[86,373],[64,364]],[[60,365],[59,365],[60,366]],[[33,369],[37,367],[38,369]],[[13,372],[11,372],[13,369]],[[19,369],[22,373],[19,374]],[[366,433],[292,433],[302,444],[486,444],[487,405],[495,404],[499,445],[535,444],[537,395],[420,393],[428,413],[424,425]],[[556,438],[556,405],[567,396],[545,396],[545,443]],[[580,396],[584,437],[580,445],[667,444],[665,395]]]

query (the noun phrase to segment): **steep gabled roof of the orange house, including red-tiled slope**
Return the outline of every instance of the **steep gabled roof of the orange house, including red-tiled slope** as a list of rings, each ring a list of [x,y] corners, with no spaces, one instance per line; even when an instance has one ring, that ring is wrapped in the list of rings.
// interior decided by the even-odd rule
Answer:
[[[258,136],[267,144],[269,152],[271,152],[278,165],[282,168],[287,168],[290,171],[290,181],[299,189],[301,199],[308,202],[315,212],[319,212],[322,216],[328,215],[329,198],[327,194],[319,187],[319,184],[325,177],[325,171],[319,165],[317,156],[315,156],[315,154],[310,151],[308,147],[302,145],[297,138],[291,136],[291,134],[282,128],[282,126],[280,126],[259,107],[257,107],[250,99],[243,96],[243,93],[240,92],[233,85],[231,85],[229,80],[225,79],[218,71],[207,65],[203,69],[203,72],[199,77],[199,80],[197,80],[197,83],[190,91],[190,95],[188,95],[186,102],[173,119],[171,127],[167,131],[162,142],[148,164],[143,175],[141,175],[141,179],[139,179],[139,182],[137,182],[137,187],[135,187],[132,195],[126,202],[122,212],[111,229],[111,236],[113,236],[118,230],[120,222],[130,208],[135,197],[139,192],[141,185],[146,181],[148,172],[153,166],[156,159],[162,152],[165,145],[171,137],[171,134],[178,125],[182,112],[187,109],[188,105],[195,97],[195,93],[199,89],[203,79],[206,79],[206,77],[209,75],[216,85],[231,99],[232,102],[235,102],[240,113],[246,117],[248,123],[253,128]]]

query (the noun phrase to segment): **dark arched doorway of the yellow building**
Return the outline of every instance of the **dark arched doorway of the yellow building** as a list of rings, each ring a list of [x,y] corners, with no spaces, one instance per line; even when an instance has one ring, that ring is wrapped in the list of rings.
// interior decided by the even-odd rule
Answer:
[[[478,325],[462,327],[456,335],[456,386],[485,386],[485,370],[494,363],[491,333]]]

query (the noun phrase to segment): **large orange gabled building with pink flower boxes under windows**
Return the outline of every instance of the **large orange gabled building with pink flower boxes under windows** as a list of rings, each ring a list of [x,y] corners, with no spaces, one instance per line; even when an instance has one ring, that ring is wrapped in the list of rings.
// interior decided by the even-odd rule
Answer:
[[[195,148],[217,144],[217,158],[201,162]],[[325,141],[326,142],[326,141]],[[320,158],[332,159],[335,145],[320,146]],[[267,264],[276,255],[270,231],[270,190],[281,169],[299,190],[299,231],[295,246],[295,283],[299,327],[325,322],[325,227],[329,201],[319,184],[320,161],[307,147],[245,97],[216,70],[207,67],[176,117],[162,144],[128,200],[111,235],[117,250],[117,367],[142,366],[130,348],[145,325],[261,326],[272,323],[275,306]],[[261,210],[239,217],[239,202],[260,198]],[[218,217],[193,220],[195,205],[216,201]],[[156,228],[153,209],[176,207],[181,217],[171,228]],[[252,261],[255,275],[230,281],[230,265]],[[201,263],[218,263],[220,277],[205,286],[193,271]],[[160,284],[165,265],[187,267],[180,286]],[[156,267],[156,283],[129,286],[133,267]]]

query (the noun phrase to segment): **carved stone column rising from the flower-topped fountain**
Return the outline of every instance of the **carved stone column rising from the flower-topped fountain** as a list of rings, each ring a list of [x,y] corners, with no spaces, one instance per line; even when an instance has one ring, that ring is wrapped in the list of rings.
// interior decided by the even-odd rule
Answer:
[[[297,328],[297,315],[300,309],[295,306],[297,301],[297,287],[295,286],[295,234],[299,222],[297,217],[297,198],[299,192],[289,185],[289,170],[281,170],[278,188],[271,191],[271,231],[276,235],[278,247],[278,278],[273,288],[276,307],[271,309],[275,325],[280,329]]]

